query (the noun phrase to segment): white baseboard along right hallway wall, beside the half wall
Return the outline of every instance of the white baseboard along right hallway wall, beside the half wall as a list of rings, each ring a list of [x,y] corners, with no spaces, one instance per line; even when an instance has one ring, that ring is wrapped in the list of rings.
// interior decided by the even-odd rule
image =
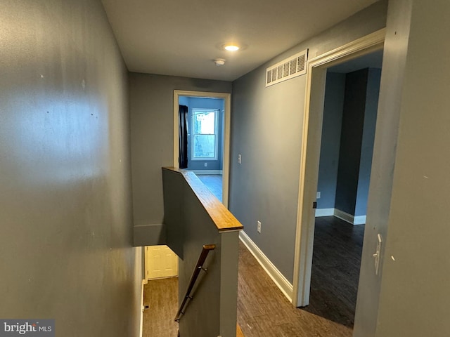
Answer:
[[[262,268],[266,271],[267,275],[274,281],[276,286],[281,290],[281,292],[288,298],[290,303],[293,301],[293,285],[290,284],[288,279],[286,279],[283,274],[275,267],[274,263],[271,263],[271,260],[264,255],[261,249],[255,244],[255,242],[248,237],[247,234],[243,230],[239,232],[239,239],[243,244],[248,248],[250,253],[255,256],[258,263],[262,266]]]

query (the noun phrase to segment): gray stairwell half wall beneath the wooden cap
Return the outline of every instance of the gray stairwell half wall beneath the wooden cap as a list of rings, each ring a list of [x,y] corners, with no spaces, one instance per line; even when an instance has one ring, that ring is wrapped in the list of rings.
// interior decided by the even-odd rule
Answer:
[[[198,180],[198,178],[195,178]],[[207,273],[201,272],[179,322],[186,337],[236,336],[238,298],[238,231],[220,232],[191,186],[181,175],[162,169],[167,244],[180,257],[179,303],[204,244],[216,247],[207,256]],[[200,183],[200,180],[198,180]],[[210,194],[197,189],[200,194]],[[191,295],[192,295],[191,294]],[[201,326],[201,329],[199,329]]]

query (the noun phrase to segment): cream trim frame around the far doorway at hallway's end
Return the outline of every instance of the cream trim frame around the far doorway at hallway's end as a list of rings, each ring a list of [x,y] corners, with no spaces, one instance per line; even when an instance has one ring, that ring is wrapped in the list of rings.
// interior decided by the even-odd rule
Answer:
[[[225,100],[224,154],[222,161],[222,204],[228,209],[230,174],[230,131],[231,131],[231,93],[211,93],[207,91],[174,90],[174,167],[179,168],[179,98],[180,96],[198,98],[221,98]]]

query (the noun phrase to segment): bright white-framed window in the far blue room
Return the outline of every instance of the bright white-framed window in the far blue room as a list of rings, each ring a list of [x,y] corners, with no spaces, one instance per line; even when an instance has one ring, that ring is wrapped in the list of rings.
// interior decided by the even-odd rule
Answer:
[[[217,119],[219,110],[192,110],[193,160],[217,160]]]

